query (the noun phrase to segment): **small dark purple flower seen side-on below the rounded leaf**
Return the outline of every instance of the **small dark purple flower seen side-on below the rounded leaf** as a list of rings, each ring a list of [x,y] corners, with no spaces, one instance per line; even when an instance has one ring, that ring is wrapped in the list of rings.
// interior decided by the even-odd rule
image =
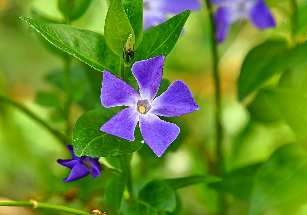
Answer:
[[[59,164],[72,169],[68,178],[62,180],[63,182],[75,181],[79,178],[87,176],[90,173],[92,173],[92,178],[95,178],[96,176],[100,175],[100,164],[98,162],[99,158],[91,158],[88,156],[82,156],[81,158],[77,158],[72,149],[72,145],[67,145],[67,148],[72,154],[72,159],[57,159],[56,161]]]

